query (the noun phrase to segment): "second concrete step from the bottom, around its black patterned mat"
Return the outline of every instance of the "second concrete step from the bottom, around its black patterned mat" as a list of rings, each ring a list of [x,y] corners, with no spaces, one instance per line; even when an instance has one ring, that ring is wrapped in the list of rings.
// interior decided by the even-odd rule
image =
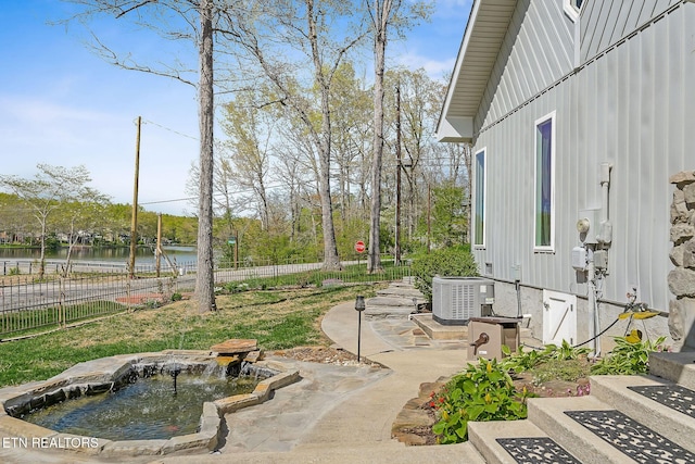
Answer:
[[[582,463],[634,464],[634,461],[565,414],[612,406],[594,397],[531,398],[529,421]]]

